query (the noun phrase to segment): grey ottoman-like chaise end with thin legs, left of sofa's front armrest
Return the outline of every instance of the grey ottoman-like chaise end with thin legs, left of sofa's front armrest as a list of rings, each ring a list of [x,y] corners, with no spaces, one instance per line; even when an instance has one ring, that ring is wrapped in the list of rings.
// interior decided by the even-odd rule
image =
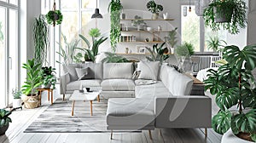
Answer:
[[[143,98],[112,98],[108,100],[107,124],[111,130],[154,129],[154,107],[151,100]]]

